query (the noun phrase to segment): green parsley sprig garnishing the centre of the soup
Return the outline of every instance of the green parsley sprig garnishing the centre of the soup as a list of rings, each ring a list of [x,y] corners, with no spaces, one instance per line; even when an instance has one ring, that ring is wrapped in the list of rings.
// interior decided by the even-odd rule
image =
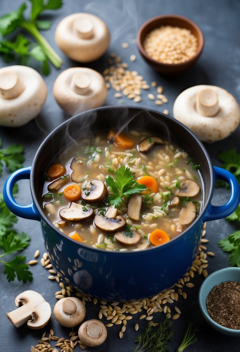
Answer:
[[[109,175],[105,181],[113,193],[108,195],[108,203],[114,208],[121,207],[122,197],[132,196],[146,190],[146,186],[135,181],[130,169],[124,165],[116,170],[115,180]]]

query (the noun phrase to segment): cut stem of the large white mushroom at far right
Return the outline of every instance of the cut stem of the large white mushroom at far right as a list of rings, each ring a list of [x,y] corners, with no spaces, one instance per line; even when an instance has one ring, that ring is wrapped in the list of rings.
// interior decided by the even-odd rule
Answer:
[[[213,117],[219,111],[217,93],[213,89],[202,89],[197,94],[197,113],[205,117]]]

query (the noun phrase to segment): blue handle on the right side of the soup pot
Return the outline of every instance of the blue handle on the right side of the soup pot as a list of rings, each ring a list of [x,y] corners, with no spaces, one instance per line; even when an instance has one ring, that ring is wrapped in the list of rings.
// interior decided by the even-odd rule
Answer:
[[[231,194],[225,205],[214,206],[210,203],[206,214],[203,216],[203,222],[226,218],[232,214],[240,202],[240,189],[236,177],[231,172],[213,166],[215,180],[222,180],[229,184]]]

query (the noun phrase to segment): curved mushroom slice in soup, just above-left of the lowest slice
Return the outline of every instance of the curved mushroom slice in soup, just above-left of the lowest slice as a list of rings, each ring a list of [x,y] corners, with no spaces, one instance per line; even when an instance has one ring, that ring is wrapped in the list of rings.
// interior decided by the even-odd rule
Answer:
[[[126,220],[123,216],[116,216],[116,219],[106,218],[106,216],[97,213],[94,218],[95,226],[103,232],[116,232],[126,226]]]

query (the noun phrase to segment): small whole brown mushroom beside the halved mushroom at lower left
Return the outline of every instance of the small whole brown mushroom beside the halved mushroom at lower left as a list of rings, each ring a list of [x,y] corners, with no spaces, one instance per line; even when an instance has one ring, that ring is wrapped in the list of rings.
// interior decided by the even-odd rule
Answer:
[[[79,298],[61,298],[55,304],[53,314],[59,324],[72,328],[83,321],[86,308]]]

